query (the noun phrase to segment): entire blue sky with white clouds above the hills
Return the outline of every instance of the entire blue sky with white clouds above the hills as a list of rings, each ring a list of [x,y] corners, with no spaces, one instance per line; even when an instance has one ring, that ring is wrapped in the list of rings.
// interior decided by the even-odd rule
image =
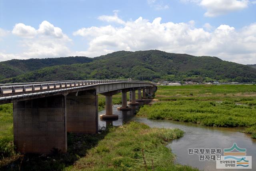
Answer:
[[[154,49],[256,64],[256,0],[0,0],[0,61]]]

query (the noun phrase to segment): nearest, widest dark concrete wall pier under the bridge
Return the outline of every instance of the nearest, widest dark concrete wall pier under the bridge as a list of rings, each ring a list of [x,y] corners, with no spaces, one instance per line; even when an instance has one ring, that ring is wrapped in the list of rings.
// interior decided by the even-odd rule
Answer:
[[[13,103],[14,145],[21,153],[67,151],[66,97],[55,95]]]

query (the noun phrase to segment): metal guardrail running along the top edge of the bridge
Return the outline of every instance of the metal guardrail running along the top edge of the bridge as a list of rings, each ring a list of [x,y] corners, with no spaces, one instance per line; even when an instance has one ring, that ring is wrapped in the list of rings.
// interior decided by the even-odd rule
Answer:
[[[109,84],[116,82],[136,82],[148,83],[134,80],[73,80],[73,81],[56,81],[56,82],[34,82],[34,83],[14,83],[0,84],[0,94],[17,93],[35,90],[60,89],[64,87],[76,87],[84,85]]]

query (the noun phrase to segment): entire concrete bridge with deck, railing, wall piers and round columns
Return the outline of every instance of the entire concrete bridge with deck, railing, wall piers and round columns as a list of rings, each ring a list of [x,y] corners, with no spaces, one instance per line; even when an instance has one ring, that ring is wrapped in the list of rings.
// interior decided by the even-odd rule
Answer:
[[[136,90],[138,99],[136,100]],[[98,94],[106,96],[106,114],[112,113],[112,95],[122,92],[122,107],[138,105],[156,91],[149,82],[132,80],[78,80],[0,84],[0,104],[13,103],[14,145],[22,153],[67,151],[67,132],[98,133]]]

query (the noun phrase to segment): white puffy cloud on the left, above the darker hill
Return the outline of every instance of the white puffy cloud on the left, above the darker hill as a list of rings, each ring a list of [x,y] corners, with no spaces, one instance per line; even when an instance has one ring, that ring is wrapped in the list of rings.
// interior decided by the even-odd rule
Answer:
[[[48,21],[43,21],[37,30],[32,26],[18,23],[14,26],[12,34],[21,38],[19,43],[23,52],[17,54],[0,52],[0,61],[14,58],[53,58],[70,53],[67,44],[72,40],[60,28]]]

